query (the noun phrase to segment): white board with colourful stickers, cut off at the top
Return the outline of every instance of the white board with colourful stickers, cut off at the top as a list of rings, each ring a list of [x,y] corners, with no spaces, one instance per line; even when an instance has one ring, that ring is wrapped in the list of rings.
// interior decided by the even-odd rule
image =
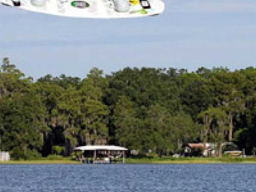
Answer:
[[[159,15],[161,0],[0,0],[2,4],[52,15],[82,18],[129,18]],[[126,2],[125,2],[126,1]],[[120,4],[121,2],[121,4]],[[128,8],[127,8],[128,3]],[[118,10],[119,9],[119,10]]]

